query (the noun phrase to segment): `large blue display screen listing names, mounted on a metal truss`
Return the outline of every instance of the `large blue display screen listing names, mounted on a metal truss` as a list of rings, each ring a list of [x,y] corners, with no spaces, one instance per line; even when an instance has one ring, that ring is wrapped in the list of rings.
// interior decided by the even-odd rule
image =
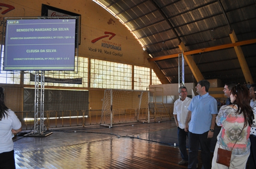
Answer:
[[[76,19],[6,20],[3,70],[74,70]]]

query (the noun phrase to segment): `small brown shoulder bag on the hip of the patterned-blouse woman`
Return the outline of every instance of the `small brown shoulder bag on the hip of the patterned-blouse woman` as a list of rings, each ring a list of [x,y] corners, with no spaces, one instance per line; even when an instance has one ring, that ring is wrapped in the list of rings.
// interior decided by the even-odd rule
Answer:
[[[218,148],[216,163],[222,164],[224,166],[230,166],[232,151]]]

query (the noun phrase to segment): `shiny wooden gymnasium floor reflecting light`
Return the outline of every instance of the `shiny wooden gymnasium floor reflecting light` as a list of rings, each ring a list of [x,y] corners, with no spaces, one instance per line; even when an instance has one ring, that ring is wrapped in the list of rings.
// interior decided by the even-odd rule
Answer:
[[[50,131],[53,133],[47,137],[15,136],[17,169],[187,168],[187,165],[177,164],[181,158],[179,148],[174,146],[174,143],[177,145],[174,121],[119,124],[112,128],[95,125]],[[215,132],[215,136],[217,134]],[[212,150],[215,138],[212,139]],[[200,151],[198,161],[198,168],[201,168]]]

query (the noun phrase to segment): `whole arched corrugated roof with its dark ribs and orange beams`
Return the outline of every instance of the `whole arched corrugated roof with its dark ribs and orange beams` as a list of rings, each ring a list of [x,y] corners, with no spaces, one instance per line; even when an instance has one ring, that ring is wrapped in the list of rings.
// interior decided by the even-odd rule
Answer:
[[[171,83],[256,79],[256,0],[94,0],[125,25]]]

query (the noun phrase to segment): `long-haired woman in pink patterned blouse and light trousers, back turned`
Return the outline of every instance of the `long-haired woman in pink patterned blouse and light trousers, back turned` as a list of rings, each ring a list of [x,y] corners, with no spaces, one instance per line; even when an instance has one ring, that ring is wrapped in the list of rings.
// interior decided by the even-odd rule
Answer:
[[[236,85],[230,90],[230,100],[233,104],[222,106],[216,117],[216,124],[221,126],[221,131],[217,136],[212,169],[228,169],[227,166],[216,163],[218,148],[232,150],[229,169],[245,169],[250,155],[249,135],[253,110],[250,107],[248,89],[243,85]]]

